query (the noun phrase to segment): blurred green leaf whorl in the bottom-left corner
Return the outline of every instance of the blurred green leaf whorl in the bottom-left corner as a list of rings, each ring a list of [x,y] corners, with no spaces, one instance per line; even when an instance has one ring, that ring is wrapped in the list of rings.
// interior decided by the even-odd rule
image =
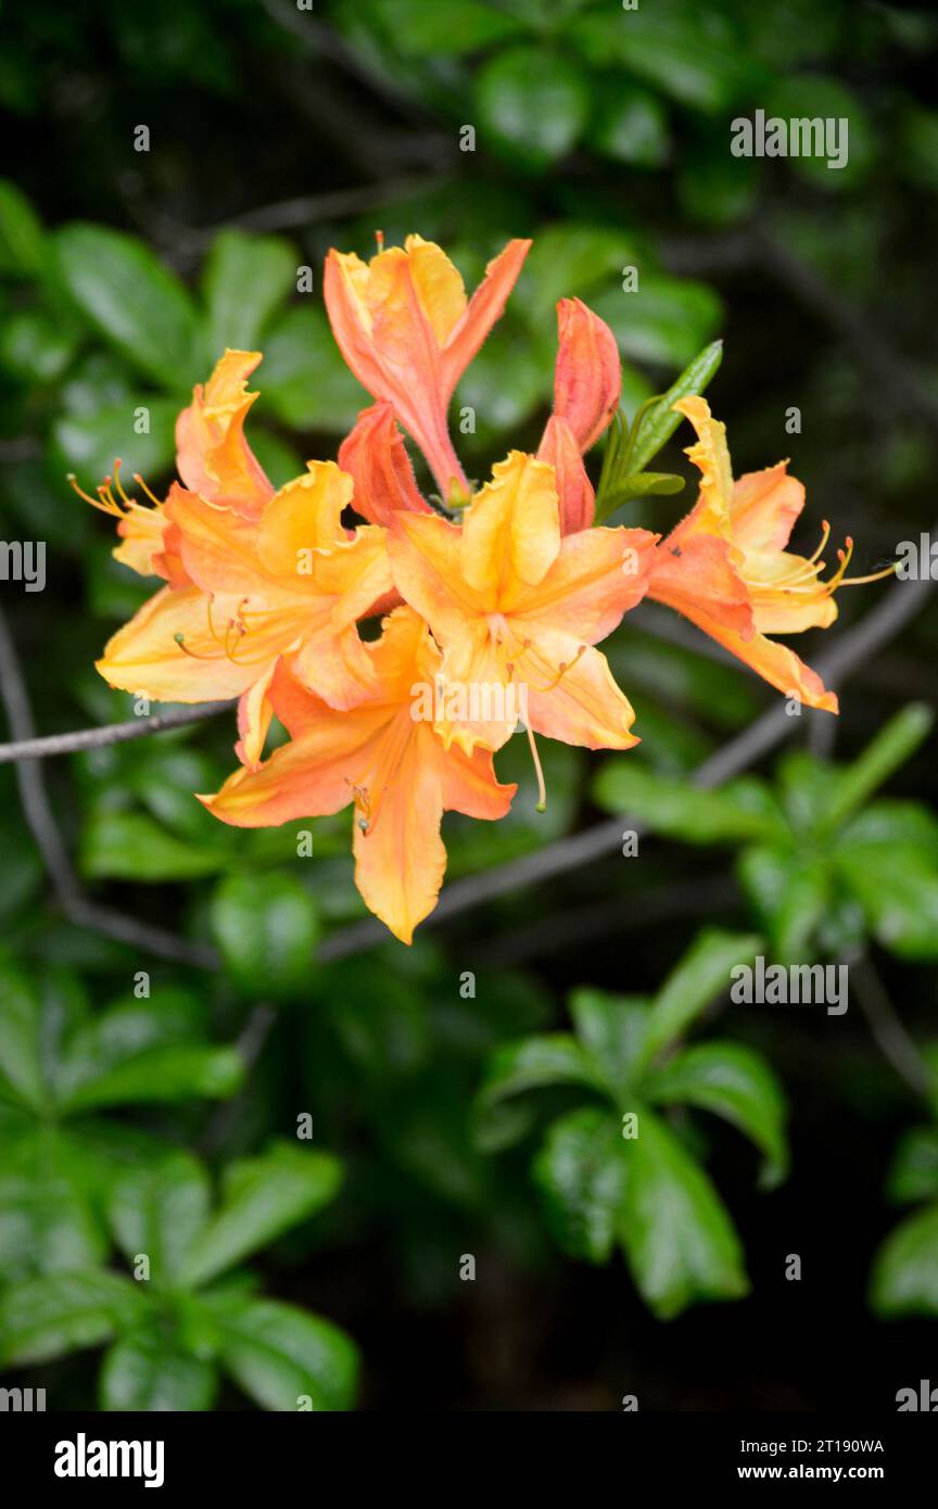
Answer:
[[[184,1153],[136,1168],[112,1188],[110,1234],[133,1278],[75,1266],[0,1295],[0,1361],[32,1364],[109,1345],[103,1409],[210,1409],[219,1370],[264,1409],[347,1409],[357,1352],[318,1316],[222,1281],[235,1263],[327,1204],[341,1168],[326,1153],[277,1144],[210,1179]]]

